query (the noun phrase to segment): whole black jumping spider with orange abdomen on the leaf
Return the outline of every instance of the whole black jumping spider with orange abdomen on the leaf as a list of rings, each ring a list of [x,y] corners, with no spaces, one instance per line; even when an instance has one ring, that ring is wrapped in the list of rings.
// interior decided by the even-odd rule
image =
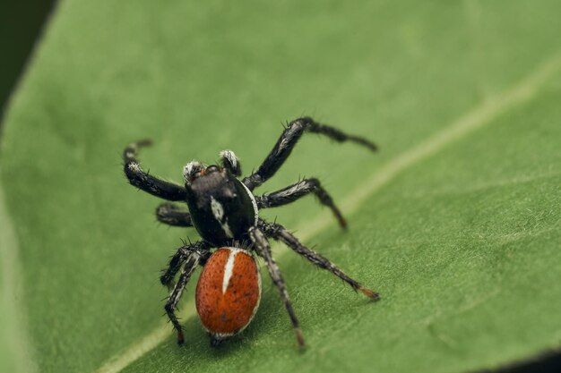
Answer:
[[[327,269],[350,284],[355,291],[363,292],[373,300],[378,299],[376,292],[362,287],[328,259],[306,248],[282,225],[268,223],[259,217],[260,208],[276,208],[314,193],[323,205],[331,208],[339,225],[346,227],[341,211],[317,179],[304,179],[263,196],[255,196],[252,192],[279,170],[306,131],[320,133],[339,142],[352,141],[373,151],[376,149],[369,140],[316,123],[308,117],[299,118],[285,128],[257,171],[241,181],[237,179],[241,176],[241,167],[236,155],[231,150],[223,150],[220,152],[220,165],[203,165],[197,161],[187,163],[183,169],[185,185],[181,186],[142,170],[136,153],[138,148],[149,145],[150,140],[138,141],[125,148],[125,174],[132,185],[161,199],[187,204],[188,212],[171,203],[161,204],[156,210],[158,220],[168,225],[192,226],[202,237],[199,242],[180,247],[160,277],[162,284],[173,288],[165,309],[177,330],[178,343],[184,342],[184,335],[175,309],[197,266],[202,266],[203,272],[196,287],[196,309],[211,336],[211,344],[218,345],[249,324],[261,298],[261,276],[255,263],[256,255],[264,260],[273,284],[279,289],[298,344],[304,345],[298,318],[292,309],[279,267],[272,258],[267,238],[283,242],[316,266]],[[216,248],[220,249],[213,250]],[[179,270],[181,274],[174,284]]]

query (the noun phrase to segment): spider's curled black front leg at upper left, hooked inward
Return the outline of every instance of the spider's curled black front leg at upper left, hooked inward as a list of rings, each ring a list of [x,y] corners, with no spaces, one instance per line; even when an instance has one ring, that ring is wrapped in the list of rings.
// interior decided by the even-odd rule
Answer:
[[[186,189],[184,187],[160,180],[142,170],[136,156],[139,148],[149,145],[151,145],[151,140],[140,140],[125,148],[123,160],[125,161],[125,175],[128,182],[161,199],[186,200]]]

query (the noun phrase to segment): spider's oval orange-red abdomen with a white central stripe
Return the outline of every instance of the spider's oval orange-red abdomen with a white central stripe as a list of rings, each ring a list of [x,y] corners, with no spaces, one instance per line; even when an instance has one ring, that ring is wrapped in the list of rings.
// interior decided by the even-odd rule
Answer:
[[[246,250],[221,248],[203,267],[197,284],[196,309],[212,340],[220,342],[243,330],[261,299],[261,276]]]

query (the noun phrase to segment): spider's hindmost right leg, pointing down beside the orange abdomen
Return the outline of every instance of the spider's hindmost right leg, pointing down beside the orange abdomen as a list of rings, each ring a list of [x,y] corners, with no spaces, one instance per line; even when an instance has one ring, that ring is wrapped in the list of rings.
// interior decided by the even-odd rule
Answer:
[[[272,278],[272,282],[279,289],[280,298],[282,298],[284,307],[289,312],[290,321],[292,322],[292,326],[294,327],[298,345],[300,347],[304,347],[304,336],[302,335],[302,331],[300,330],[298,318],[296,317],[296,313],[292,308],[292,302],[289,298],[289,292],[287,292],[286,286],[284,285],[284,280],[280,275],[280,269],[277,266],[275,260],[272,258],[271,246],[269,245],[267,238],[264,236],[261,229],[256,226],[252,226],[251,228],[249,228],[249,238],[254,244],[257,254],[265,260],[265,266],[267,266],[267,270],[269,271],[269,275]]]

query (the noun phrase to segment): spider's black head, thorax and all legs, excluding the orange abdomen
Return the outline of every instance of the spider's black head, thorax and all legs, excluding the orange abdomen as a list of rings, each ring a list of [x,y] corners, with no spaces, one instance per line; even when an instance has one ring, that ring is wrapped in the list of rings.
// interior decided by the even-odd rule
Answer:
[[[194,268],[198,265],[204,266],[211,256],[211,249],[221,246],[253,250],[257,256],[264,259],[272,282],[279,288],[300,345],[304,344],[304,338],[298,326],[298,318],[292,309],[279,267],[272,258],[267,238],[285,243],[316,266],[340,277],[355,291],[364,292],[372,299],[378,299],[376,292],[363,288],[328,259],[306,248],[282,225],[267,223],[259,217],[260,208],[279,207],[313,193],[324,206],[331,208],[341,227],[346,227],[346,221],[339,208],[335,206],[331,196],[317,179],[304,179],[280,191],[262,196],[255,196],[252,192],[279,170],[306,131],[320,133],[339,142],[352,141],[371,150],[376,149],[375,144],[366,139],[347,135],[330,126],[316,123],[308,117],[299,118],[289,123],[263,164],[242,181],[237,179],[241,175],[241,166],[236,155],[231,150],[224,150],[220,152],[220,165],[203,165],[197,161],[187,163],[183,171],[185,185],[180,186],[160,180],[142,170],[136,155],[139,148],[150,144],[149,140],[134,142],[125,148],[123,155],[125,175],[132,185],[161,199],[187,204],[188,211],[172,203],[161,204],[156,211],[158,220],[168,225],[193,226],[202,237],[200,242],[186,243],[179,248],[177,254],[169,261],[168,269],[160,277],[162,284],[173,286],[165,309],[177,330],[179,343],[183,343],[184,336],[175,315],[177,301]],[[174,285],[174,278],[179,270],[181,274],[177,284]],[[216,344],[220,341],[212,342]]]

